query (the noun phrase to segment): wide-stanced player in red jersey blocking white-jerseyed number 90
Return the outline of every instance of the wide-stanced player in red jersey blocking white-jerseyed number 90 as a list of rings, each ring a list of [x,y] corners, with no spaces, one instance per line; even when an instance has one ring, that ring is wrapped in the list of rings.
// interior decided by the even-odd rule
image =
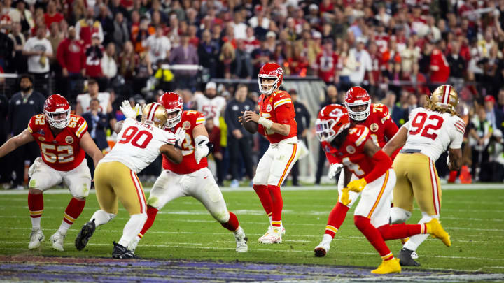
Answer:
[[[167,203],[182,196],[193,196],[203,203],[224,228],[232,231],[237,243],[236,251],[247,252],[245,232],[239,226],[236,215],[228,211],[221,189],[208,168],[207,155],[214,145],[209,141],[203,113],[184,111],[182,97],[174,92],[163,94],[159,103],[167,110],[167,131],[179,136],[183,159],[181,164],[174,164],[163,156],[165,170],[154,183],[147,200],[147,221],[128,248],[134,252],[141,238],[153,225],[158,211]]]

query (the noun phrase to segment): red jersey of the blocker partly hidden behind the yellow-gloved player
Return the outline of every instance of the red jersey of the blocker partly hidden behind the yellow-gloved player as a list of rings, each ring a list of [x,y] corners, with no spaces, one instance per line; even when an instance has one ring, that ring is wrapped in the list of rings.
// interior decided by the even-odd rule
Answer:
[[[372,103],[370,115],[362,122],[353,121],[353,124],[366,126],[370,129],[369,136],[375,145],[380,148],[384,147],[397,131],[398,126],[393,122],[388,113],[388,107],[379,103]]]

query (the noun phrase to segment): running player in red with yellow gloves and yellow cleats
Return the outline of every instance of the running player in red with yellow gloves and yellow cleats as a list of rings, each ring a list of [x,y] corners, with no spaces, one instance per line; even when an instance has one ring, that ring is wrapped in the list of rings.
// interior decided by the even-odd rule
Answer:
[[[448,233],[437,219],[426,224],[388,224],[395,173],[391,169],[391,158],[372,141],[370,129],[363,125],[351,126],[346,108],[336,104],[322,108],[315,126],[316,136],[328,158],[344,164],[344,189],[339,202],[348,205],[349,191],[362,191],[353,220],[381,256],[381,265],[372,273],[400,273],[399,260],[394,258],[385,240],[428,233],[451,245]],[[359,179],[350,182],[352,173]]]

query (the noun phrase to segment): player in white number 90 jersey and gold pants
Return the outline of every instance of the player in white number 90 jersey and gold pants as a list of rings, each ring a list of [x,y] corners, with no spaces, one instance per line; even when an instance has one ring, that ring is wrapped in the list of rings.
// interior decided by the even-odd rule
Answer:
[[[163,131],[167,114],[160,103],[149,103],[143,110],[141,122],[134,119],[137,111],[131,108],[129,101],[124,101],[120,109],[126,119],[116,127],[116,132],[119,132],[117,143],[94,171],[100,209],[83,225],[75,245],[78,250],[83,249],[97,226],[109,223],[116,217],[119,199],[130,213],[130,219],[119,242],[113,242],[112,256],[116,259],[131,259],[136,256],[127,249],[127,245],[147,219],[144,189],[137,173],[151,164],[159,154],[174,163],[180,163],[182,153],[174,147],[179,138],[174,133]]]

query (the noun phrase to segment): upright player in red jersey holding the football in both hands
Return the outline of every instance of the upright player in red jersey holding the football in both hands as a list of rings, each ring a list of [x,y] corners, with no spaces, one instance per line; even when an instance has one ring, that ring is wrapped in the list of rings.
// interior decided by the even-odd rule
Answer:
[[[299,157],[295,110],[288,92],[279,90],[283,71],[279,64],[267,63],[259,71],[259,115],[250,110],[240,121],[258,123],[258,132],[271,145],[255,170],[253,188],[269,217],[270,225],[259,238],[263,244],[280,243],[285,233],[281,222],[283,200],[280,187]]]

